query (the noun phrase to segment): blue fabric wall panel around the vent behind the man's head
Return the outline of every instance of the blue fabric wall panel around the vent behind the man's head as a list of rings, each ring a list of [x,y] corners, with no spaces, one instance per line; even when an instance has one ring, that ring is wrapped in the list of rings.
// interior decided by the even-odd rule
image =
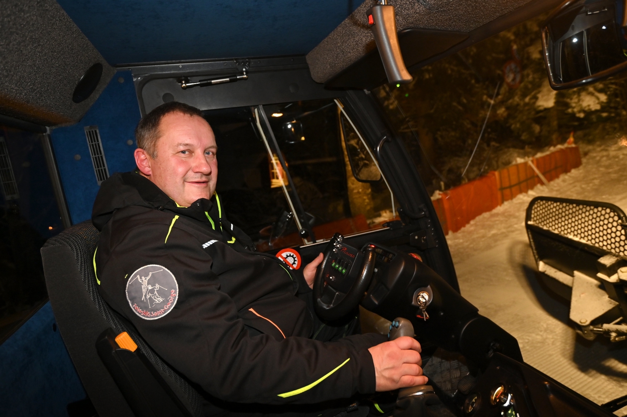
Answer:
[[[120,80],[124,82],[120,83]],[[97,125],[109,174],[135,169],[134,130],[141,115],[130,71],[119,71],[85,117],[75,125],[52,131],[56,162],[72,223],[92,217],[98,182],[85,138],[85,126]],[[127,143],[132,140],[132,144]],[[78,161],[76,155],[80,155]]]

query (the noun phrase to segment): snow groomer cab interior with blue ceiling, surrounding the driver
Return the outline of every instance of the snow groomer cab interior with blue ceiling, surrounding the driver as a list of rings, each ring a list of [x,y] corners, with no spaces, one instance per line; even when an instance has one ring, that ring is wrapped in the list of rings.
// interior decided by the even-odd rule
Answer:
[[[421,343],[429,383],[399,391],[395,416],[613,415],[460,294],[425,162],[372,93],[560,3],[5,0],[0,414],[202,415],[93,270],[98,187],[135,169],[142,115],[178,101],[213,127],[221,204],[256,250],[292,268],[324,253],[320,317],[361,305]]]

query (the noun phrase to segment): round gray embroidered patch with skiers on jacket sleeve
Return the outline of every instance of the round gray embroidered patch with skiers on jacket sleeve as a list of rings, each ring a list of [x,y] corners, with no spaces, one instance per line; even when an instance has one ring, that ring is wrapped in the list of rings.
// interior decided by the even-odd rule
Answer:
[[[145,320],[160,319],[176,305],[179,284],[174,274],[161,265],[145,265],[126,283],[126,299],[135,314]]]

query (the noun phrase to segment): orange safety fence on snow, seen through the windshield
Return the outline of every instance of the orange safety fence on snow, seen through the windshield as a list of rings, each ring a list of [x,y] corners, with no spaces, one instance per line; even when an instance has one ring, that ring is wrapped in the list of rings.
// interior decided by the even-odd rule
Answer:
[[[564,172],[580,166],[581,154],[577,146],[564,147],[530,161],[491,171],[486,176],[441,192],[441,197],[432,203],[445,235],[449,231],[460,230],[480,214],[492,211],[503,202],[542,184],[532,164],[546,181],[553,181]]]

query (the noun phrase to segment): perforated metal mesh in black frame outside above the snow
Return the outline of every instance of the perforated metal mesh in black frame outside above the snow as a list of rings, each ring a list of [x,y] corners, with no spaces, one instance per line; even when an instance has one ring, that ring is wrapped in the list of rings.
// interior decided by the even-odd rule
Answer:
[[[627,218],[614,204],[537,197],[527,209],[527,223],[627,258]]]

